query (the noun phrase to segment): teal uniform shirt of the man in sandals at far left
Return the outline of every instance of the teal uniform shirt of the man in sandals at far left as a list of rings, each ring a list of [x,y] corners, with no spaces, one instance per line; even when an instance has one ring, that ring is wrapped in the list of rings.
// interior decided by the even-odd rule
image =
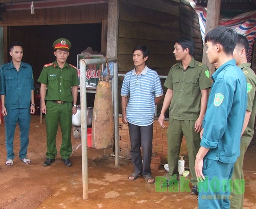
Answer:
[[[34,90],[33,71],[30,64],[21,62],[19,71],[13,62],[0,68],[0,95],[5,95],[6,109],[29,108]]]

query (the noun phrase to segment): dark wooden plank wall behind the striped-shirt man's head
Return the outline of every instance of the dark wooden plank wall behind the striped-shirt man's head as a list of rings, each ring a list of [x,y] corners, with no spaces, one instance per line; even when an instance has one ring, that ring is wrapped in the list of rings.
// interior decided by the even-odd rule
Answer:
[[[152,5],[151,5],[152,4]],[[174,40],[179,37],[179,4],[169,0],[120,0],[118,21],[119,71],[134,68],[132,49],[145,45],[150,50],[147,66],[167,75],[175,63]]]

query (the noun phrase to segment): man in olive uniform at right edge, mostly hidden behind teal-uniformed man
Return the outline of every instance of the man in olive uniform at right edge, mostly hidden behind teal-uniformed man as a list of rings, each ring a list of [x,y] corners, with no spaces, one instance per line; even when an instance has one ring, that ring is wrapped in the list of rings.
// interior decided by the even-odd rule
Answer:
[[[256,75],[250,68],[250,63],[248,63],[246,59],[248,50],[249,42],[247,38],[239,34],[236,48],[233,52],[233,57],[236,59],[236,65],[243,70],[243,73],[247,79],[247,108],[245,113],[245,122],[243,124],[242,130],[243,134],[241,136],[240,142],[240,156],[237,158],[236,163],[234,164],[232,175],[234,190],[231,192],[231,209],[243,209],[243,196],[245,191],[243,157],[254,134],[253,128],[256,114]],[[237,184],[238,182],[242,182],[241,185]]]

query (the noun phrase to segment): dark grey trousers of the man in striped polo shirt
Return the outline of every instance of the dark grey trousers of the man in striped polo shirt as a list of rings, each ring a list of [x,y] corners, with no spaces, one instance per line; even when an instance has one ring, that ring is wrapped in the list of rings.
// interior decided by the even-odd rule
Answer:
[[[151,174],[150,162],[152,155],[152,140],[153,140],[153,123],[148,126],[137,126],[128,123],[130,141],[131,141],[131,156],[134,164],[134,172],[147,176]],[[141,148],[143,152],[143,165],[141,158]]]

